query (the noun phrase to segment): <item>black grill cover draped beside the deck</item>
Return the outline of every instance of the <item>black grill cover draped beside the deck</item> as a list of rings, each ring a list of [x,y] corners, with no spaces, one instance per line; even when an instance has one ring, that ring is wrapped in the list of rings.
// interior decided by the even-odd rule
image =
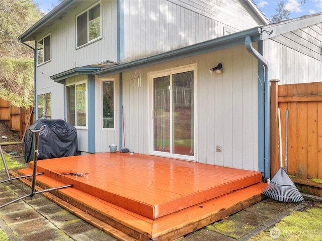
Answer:
[[[30,126],[33,131],[46,128],[39,133],[37,160],[78,155],[77,131],[62,119],[38,119]],[[34,133],[26,130],[25,135],[25,161],[34,158]]]

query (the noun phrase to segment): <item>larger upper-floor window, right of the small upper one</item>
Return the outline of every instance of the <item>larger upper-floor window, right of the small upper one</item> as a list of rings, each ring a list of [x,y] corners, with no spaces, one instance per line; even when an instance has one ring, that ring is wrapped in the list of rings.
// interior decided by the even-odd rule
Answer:
[[[101,4],[97,4],[76,16],[77,47],[101,37]]]

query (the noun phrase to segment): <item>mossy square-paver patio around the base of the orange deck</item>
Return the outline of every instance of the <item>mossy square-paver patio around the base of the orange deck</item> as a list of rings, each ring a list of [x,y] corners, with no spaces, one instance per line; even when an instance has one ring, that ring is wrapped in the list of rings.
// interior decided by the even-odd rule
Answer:
[[[18,159],[23,165],[24,159]],[[6,172],[0,171],[1,180]],[[14,181],[22,189],[30,190],[20,181]],[[25,192],[10,182],[3,183],[0,189],[1,203],[6,203]],[[180,238],[181,241],[194,240],[249,240],[262,230],[271,227],[292,211],[305,206],[302,203],[280,203],[270,199],[254,204],[227,218]],[[0,228],[10,240],[117,240],[88,222],[69,213],[46,197],[37,194],[0,210]],[[218,228],[229,224],[226,230]],[[227,225],[226,225],[227,226]]]

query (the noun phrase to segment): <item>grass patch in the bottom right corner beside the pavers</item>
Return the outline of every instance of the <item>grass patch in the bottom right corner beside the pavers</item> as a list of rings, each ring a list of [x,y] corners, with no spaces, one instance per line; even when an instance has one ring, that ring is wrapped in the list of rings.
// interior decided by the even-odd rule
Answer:
[[[272,239],[285,241],[319,241],[322,236],[322,204],[305,211],[294,211],[274,227],[251,238],[252,241]]]

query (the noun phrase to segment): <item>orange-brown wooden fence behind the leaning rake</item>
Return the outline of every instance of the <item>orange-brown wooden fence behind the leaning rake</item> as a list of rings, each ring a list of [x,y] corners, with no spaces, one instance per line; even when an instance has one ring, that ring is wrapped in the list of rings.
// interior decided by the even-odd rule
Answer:
[[[295,183],[322,188],[321,183],[312,181],[322,179],[322,82],[278,85],[278,81],[271,81],[272,177],[280,167],[278,107],[281,112],[283,167],[287,109],[286,171]]]

